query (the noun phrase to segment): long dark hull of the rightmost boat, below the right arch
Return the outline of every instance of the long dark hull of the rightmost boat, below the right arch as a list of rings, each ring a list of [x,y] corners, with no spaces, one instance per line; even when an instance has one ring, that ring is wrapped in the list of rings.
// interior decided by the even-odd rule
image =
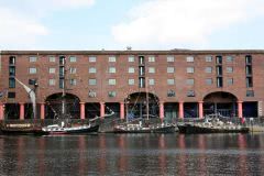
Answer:
[[[249,128],[206,128],[198,127],[193,124],[182,124],[178,125],[178,132],[185,134],[196,134],[196,133],[248,133],[250,131]]]

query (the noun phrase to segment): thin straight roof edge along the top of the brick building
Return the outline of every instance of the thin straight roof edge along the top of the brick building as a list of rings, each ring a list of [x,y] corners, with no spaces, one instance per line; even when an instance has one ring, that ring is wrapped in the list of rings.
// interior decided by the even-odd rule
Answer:
[[[169,55],[169,54],[264,54],[264,50],[170,50],[170,51],[0,51],[1,55]]]

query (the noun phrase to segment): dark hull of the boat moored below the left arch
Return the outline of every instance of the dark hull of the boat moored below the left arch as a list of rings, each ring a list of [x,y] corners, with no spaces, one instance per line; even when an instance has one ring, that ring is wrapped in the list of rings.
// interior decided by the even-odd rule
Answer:
[[[88,129],[79,129],[79,130],[69,130],[69,131],[37,131],[35,134],[38,135],[56,135],[56,134],[86,134],[86,133],[95,133],[98,132],[99,124],[90,127]]]

